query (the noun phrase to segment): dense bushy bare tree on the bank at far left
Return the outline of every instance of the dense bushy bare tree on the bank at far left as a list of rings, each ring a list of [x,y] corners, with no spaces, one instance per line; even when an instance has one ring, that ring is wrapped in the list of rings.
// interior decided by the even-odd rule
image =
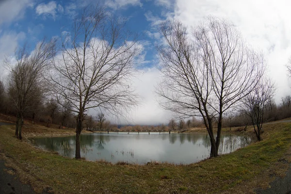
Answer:
[[[24,114],[33,111],[35,101],[40,101],[46,92],[44,71],[55,54],[55,42],[43,39],[31,53],[24,46],[16,50],[16,64],[9,59],[4,62],[9,69],[8,96],[16,109],[15,135],[19,139],[22,139]]]

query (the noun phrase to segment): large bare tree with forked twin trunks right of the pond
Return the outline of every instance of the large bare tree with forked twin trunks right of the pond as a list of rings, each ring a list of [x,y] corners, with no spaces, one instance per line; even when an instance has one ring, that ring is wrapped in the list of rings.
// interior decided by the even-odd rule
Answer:
[[[181,118],[201,116],[210,136],[210,157],[216,157],[223,113],[256,87],[264,73],[264,58],[223,19],[209,17],[192,33],[179,21],[163,22],[160,29],[165,42],[158,47],[163,75],[157,86],[160,106]]]

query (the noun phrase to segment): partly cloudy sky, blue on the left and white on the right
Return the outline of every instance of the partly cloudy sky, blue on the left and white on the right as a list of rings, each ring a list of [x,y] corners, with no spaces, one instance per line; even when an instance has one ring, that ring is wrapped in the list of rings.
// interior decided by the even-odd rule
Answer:
[[[290,0],[0,0],[0,61],[25,43],[60,37],[84,6],[97,2],[104,3],[108,12],[126,17],[127,28],[141,34],[143,67],[134,87],[142,98],[128,115],[131,124],[167,124],[172,117],[159,107],[154,92],[160,76],[154,45],[162,38],[158,25],[166,19],[178,19],[188,27],[208,16],[232,22],[248,44],[264,53],[267,73],[277,87],[276,103],[291,93],[285,67],[291,57]],[[3,80],[3,66],[0,72]]]

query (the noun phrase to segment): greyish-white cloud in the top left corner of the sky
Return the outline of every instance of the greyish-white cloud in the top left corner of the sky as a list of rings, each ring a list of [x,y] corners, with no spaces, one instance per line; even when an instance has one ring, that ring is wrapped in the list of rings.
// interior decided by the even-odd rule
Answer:
[[[0,1],[0,25],[22,18],[25,10],[29,7],[33,7],[33,1],[34,0]]]

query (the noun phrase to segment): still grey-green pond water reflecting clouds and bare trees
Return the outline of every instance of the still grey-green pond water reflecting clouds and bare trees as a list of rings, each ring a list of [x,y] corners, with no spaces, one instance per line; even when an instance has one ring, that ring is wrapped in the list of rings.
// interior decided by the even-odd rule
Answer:
[[[82,134],[80,140],[81,157],[112,163],[145,164],[158,161],[189,164],[208,158],[211,146],[208,134],[200,133],[91,133]],[[75,136],[35,138],[34,143],[63,156],[75,156]],[[248,144],[248,137],[222,134],[219,154],[233,152]]]

